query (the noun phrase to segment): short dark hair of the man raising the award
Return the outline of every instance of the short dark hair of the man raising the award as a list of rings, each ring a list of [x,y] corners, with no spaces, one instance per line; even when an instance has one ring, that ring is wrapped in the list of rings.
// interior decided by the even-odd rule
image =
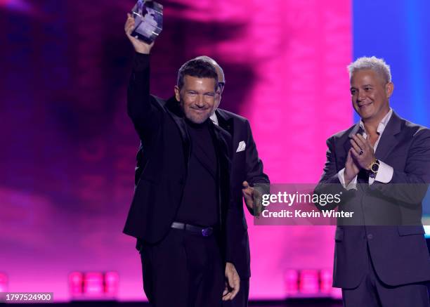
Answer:
[[[194,59],[185,62],[178,70],[176,85],[179,89],[182,89],[185,75],[197,78],[212,78],[215,80],[215,89],[218,88],[218,74],[216,74],[215,67],[207,61]]]

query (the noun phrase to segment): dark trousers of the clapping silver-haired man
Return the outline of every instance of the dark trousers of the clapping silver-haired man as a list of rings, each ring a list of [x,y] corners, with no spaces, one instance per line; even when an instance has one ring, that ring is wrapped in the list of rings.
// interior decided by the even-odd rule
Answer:
[[[360,285],[342,289],[344,307],[429,307],[429,293],[424,283],[389,286],[377,276],[367,247],[367,273]]]

